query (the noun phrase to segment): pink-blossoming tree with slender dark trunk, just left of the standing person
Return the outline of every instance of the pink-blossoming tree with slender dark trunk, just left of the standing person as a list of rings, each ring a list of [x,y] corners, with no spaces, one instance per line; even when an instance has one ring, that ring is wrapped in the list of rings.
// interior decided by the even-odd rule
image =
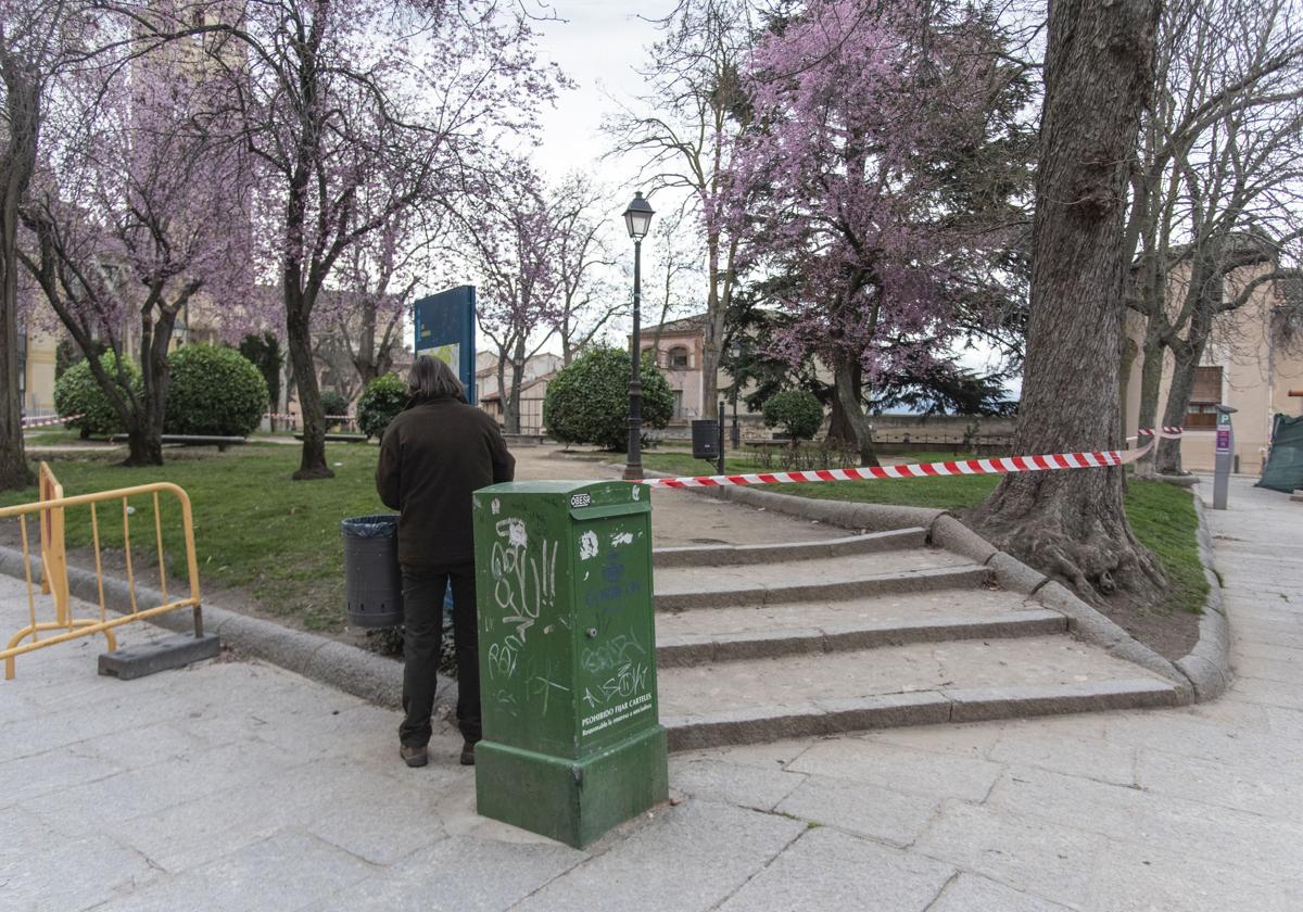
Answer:
[[[284,304],[304,417],[294,478],[327,478],[317,302],[347,253],[414,206],[460,208],[558,83],[528,16],[494,0],[246,0],[207,26],[258,159],[255,237]],[[364,188],[370,188],[364,192]]]

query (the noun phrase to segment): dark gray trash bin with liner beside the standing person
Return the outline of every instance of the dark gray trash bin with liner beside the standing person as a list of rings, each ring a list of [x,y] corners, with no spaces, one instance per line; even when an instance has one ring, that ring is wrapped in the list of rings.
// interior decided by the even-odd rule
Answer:
[[[354,516],[339,525],[344,533],[348,623],[353,627],[397,627],[403,623],[397,513]]]

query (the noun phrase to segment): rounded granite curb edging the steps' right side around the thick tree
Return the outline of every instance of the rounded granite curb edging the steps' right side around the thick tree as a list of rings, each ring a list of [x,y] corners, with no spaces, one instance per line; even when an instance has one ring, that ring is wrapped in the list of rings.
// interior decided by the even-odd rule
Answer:
[[[665,473],[646,473],[649,477],[667,478]],[[1208,533],[1203,504],[1195,496],[1200,511],[1200,558],[1209,577],[1208,605],[1199,625],[1199,641],[1184,658],[1170,662],[1149,646],[1127,633],[1102,612],[1084,602],[1067,586],[1032,569],[1016,558],[1005,554],[966,526],[950,512],[920,507],[891,507],[883,504],[852,504],[823,502],[787,494],[771,494],[743,486],[680,489],[706,494],[721,500],[734,500],[774,512],[820,520],[847,529],[886,532],[900,525],[928,529],[928,541],[937,547],[963,555],[990,568],[995,581],[1005,589],[1036,599],[1046,608],[1059,611],[1068,619],[1068,628],[1085,642],[1100,646],[1110,655],[1126,659],[1141,668],[1161,675],[1177,687],[1179,702],[1213,700],[1230,681],[1230,631],[1221,608],[1221,586],[1212,572],[1212,535]]]

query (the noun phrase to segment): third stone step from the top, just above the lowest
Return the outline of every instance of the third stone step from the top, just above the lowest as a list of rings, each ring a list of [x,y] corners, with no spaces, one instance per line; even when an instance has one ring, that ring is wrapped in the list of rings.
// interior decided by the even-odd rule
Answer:
[[[1067,619],[1062,614],[1028,603],[1022,595],[992,589],[943,589],[844,602],[661,612],[657,662],[668,668],[1066,631]]]

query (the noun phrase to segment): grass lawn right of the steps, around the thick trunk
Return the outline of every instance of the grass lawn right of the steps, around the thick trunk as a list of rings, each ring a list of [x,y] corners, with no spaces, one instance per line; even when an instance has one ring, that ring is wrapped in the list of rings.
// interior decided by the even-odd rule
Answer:
[[[942,463],[972,459],[972,455],[913,453],[889,457],[907,463]],[[684,476],[714,474],[704,460],[679,453],[644,453],[642,464],[657,472]],[[730,473],[758,472],[749,455],[724,460]],[[775,465],[771,470],[778,470]],[[769,491],[820,500],[850,500],[902,507],[929,507],[963,515],[977,507],[999,483],[998,476],[946,476],[939,478],[906,478],[889,481],[840,481],[835,483],[770,485]],[[1199,517],[1190,492],[1157,481],[1132,478],[1127,486],[1127,519],[1131,528],[1162,562],[1173,584],[1164,607],[1167,611],[1203,611],[1208,598],[1208,581],[1199,560]]]

